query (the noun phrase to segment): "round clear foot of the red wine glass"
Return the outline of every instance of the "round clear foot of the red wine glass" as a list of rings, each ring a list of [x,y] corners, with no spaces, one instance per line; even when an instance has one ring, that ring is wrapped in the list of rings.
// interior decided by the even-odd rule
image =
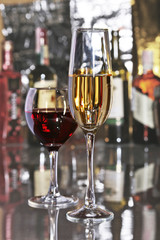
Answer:
[[[28,200],[28,205],[33,208],[67,208],[71,206],[75,206],[78,203],[78,198],[71,196],[58,196],[58,197],[50,197],[50,196],[35,196]]]

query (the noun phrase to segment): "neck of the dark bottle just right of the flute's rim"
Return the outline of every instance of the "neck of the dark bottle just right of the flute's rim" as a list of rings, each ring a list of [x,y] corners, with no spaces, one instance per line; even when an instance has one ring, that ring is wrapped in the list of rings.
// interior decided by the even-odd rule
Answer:
[[[120,60],[120,50],[119,50],[119,32],[112,31],[112,60]]]

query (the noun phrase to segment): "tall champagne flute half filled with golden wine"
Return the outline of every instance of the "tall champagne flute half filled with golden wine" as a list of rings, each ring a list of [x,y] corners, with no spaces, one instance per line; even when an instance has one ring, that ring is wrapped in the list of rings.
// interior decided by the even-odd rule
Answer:
[[[95,203],[93,154],[95,135],[106,121],[112,102],[112,72],[107,29],[77,29],[72,38],[68,96],[73,118],[83,130],[87,148],[85,203],[67,213],[72,222],[99,223],[113,213]]]

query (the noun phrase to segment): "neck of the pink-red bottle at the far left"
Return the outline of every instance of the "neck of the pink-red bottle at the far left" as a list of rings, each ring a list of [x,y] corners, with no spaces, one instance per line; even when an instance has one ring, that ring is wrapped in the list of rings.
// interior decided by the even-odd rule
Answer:
[[[11,41],[6,41],[3,45],[2,70],[13,71],[13,47]]]

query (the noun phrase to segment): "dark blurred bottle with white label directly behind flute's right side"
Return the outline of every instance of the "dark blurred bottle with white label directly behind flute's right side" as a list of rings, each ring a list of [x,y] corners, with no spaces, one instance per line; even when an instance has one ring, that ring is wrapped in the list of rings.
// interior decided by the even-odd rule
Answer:
[[[113,104],[105,124],[106,143],[130,141],[129,72],[120,56],[119,31],[112,31]]]

